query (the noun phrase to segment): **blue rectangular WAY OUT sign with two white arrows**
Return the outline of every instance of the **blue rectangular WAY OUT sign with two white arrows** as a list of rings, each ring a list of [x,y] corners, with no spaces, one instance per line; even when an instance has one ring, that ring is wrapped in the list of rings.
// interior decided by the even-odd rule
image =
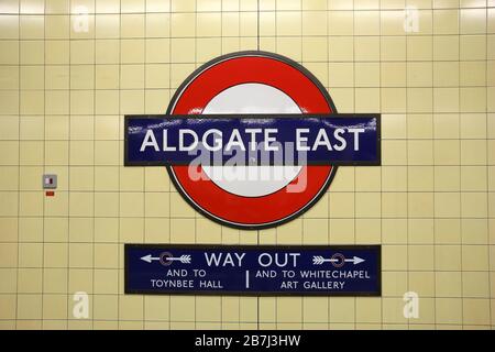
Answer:
[[[380,245],[125,244],[125,294],[380,296]]]

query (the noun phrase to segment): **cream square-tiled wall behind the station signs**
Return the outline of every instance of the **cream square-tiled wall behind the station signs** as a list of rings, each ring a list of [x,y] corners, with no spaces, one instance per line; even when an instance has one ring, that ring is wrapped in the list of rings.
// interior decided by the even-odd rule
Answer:
[[[493,328],[494,7],[0,0],[0,328]],[[382,113],[383,166],[339,168],[304,217],[252,232],[199,216],[162,167],[124,168],[122,121],[164,113],[201,63],[257,48],[302,63],[339,112]],[[383,297],[123,295],[129,242],[380,243]],[[408,290],[417,319],[403,317]]]

